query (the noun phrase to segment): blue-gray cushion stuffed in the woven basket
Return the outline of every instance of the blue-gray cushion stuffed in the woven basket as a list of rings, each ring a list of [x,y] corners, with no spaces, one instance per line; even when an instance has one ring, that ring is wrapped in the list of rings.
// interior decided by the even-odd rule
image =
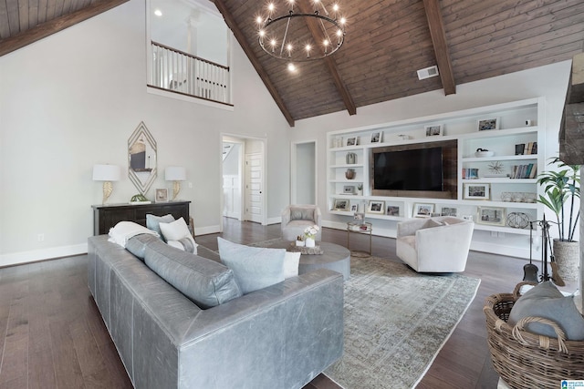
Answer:
[[[541,282],[521,296],[509,313],[509,324],[515,325],[527,316],[543,317],[556,322],[570,341],[584,340],[584,319],[574,304],[573,296],[564,296],[552,282]],[[553,328],[540,322],[529,322],[530,333],[557,338]]]

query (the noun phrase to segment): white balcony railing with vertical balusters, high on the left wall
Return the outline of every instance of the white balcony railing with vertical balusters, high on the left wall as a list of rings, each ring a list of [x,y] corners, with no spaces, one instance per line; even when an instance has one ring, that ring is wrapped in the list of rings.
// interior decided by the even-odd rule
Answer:
[[[229,67],[156,42],[151,52],[151,87],[231,104]]]

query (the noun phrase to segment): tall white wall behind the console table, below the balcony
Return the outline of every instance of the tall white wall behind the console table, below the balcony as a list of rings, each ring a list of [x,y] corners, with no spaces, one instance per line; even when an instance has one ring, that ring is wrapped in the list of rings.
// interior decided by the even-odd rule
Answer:
[[[127,169],[141,121],[158,169],[186,167],[193,188],[183,183],[180,197],[193,201],[196,233],[219,229],[222,132],[268,139],[268,218],[287,205],[287,122],[235,39],[230,111],[147,93],[145,25],[144,0],[131,0],[0,57],[0,266],[87,250],[101,201],[91,169]],[[159,174],[147,195],[169,186]],[[109,202],[137,192],[124,174]]]

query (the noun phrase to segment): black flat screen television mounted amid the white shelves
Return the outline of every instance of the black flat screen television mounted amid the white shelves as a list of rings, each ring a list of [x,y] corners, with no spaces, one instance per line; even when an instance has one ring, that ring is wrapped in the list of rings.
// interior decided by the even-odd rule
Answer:
[[[373,189],[443,191],[443,148],[373,151]]]

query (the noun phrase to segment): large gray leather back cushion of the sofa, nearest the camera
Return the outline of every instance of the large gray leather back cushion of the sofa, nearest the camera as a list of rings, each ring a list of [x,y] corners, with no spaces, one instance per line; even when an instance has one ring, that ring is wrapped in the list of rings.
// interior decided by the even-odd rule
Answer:
[[[234,272],[223,264],[177,250],[162,241],[148,244],[144,261],[164,281],[202,309],[242,295]]]

